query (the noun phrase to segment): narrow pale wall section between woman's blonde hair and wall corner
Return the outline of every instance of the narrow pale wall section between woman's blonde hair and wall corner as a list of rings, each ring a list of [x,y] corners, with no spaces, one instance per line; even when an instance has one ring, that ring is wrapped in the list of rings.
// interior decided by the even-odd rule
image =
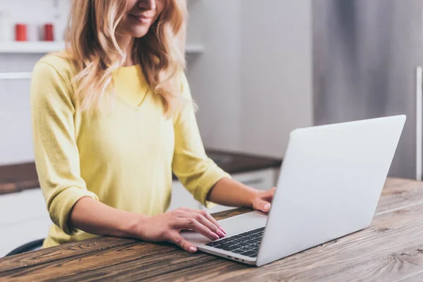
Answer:
[[[190,25],[188,35],[202,33],[206,50],[188,56],[188,80],[207,147],[236,150],[240,145],[242,2],[203,0],[192,4],[202,8],[197,9],[200,13],[192,13],[196,20],[191,19],[195,25]]]

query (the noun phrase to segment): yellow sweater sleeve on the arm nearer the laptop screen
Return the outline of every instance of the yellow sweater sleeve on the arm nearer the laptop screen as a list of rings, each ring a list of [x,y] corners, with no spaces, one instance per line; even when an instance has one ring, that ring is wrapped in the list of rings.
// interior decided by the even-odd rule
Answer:
[[[207,201],[209,190],[221,178],[231,178],[231,176],[207,157],[185,74],[182,76],[182,87],[183,97],[190,102],[185,103],[174,123],[175,152],[172,170],[197,201],[204,204],[205,207],[211,207],[212,202]]]

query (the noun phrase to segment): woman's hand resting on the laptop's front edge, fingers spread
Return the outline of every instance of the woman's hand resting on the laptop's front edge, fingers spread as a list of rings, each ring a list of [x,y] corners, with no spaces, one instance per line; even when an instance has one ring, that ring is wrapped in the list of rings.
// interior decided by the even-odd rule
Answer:
[[[181,235],[182,230],[193,230],[211,240],[223,238],[226,231],[208,212],[198,209],[179,208],[171,212],[149,216],[138,226],[139,237],[149,242],[169,241],[187,252],[197,252]]]

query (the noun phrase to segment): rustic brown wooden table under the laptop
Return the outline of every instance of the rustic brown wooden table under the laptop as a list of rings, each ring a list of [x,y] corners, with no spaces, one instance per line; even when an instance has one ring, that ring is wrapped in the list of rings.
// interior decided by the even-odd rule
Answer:
[[[388,179],[369,228],[259,268],[105,237],[0,259],[0,281],[45,280],[423,281],[423,182]]]

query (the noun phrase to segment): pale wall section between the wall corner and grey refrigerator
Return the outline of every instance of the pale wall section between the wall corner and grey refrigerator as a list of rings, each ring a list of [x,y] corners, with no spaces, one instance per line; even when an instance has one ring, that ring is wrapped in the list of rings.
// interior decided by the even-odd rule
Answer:
[[[312,125],[311,0],[243,0],[240,148],[283,157]]]

